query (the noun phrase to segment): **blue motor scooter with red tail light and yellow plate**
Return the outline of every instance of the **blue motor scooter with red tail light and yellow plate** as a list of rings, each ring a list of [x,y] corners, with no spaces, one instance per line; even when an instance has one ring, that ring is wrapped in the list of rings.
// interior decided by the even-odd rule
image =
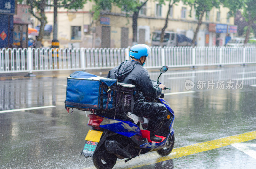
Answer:
[[[168,70],[168,66],[163,66],[162,73]],[[152,81],[153,85],[158,86],[157,82]],[[106,115],[93,112],[89,114],[88,125],[92,127],[86,135],[86,143],[81,153],[85,157],[91,157],[96,168],[113,168],[117,158],[124,159],[125,162],[132,158],[151,151],[157,151],[161,156],[171,153],[174,146],[174,112],[164,99],[164,94],[160,98],[152,98],[155,102],[163,103],[167,108],[167,114],[163,125],[155,133],[162,138],[161,142],[150,140],[150,132],[147,130],[148,118],[137,117],[138,120],[114,119]],[[136,115],[132,114],[136,118]],[[127,116],[129,117],[129,116]],[[136,124],[135,124],[136,123]]]

